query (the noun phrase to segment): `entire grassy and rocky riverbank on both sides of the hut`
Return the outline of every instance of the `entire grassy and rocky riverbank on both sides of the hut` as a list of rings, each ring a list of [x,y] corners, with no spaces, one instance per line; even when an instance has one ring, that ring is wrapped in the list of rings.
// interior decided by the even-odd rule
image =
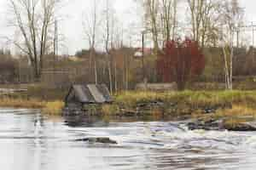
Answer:
[[[28,94],[2,96],[0,107],[41,109],[44,114],[61,115],[63,90],[45,93],[33,89]],[[45,91],[45,90],[44,90]],[[45,95],[51,95],[46,100]],[[60,97],[61,96],[61,97]],[[105,117],[151,117],[153,120],[194,119],[199,124],[222,122],[232,129],[256,120],[256,91],[184,91],[184,92],[123,92],[113,96],[111,105],[91,105],[90,115]],[[87,113],[85,113],[87,114]],[[152,120],[151,119],[151,120]]]

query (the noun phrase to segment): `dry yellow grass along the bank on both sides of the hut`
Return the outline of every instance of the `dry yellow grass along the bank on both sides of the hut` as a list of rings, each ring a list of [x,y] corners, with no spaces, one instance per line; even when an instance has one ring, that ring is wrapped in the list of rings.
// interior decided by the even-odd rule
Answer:
[[[114,96],[113,105],[103,105],[102,112],[106,115],[114,115],[120,112],[120,108],[134,110],[137,104],[160,100],[165,103],[166,110],[170,103],[177,103],[180,107],[194,108],[195,111],[203,106],[233,105],[232,109],[219,110],[215,118],[253,116],[256,117],[256,91],[184,91],[184,92],[123,92]],[[2,98],[0,107],[37,108],[44,114],[59,115],[64,106],[61,100],[53,99],[45,102],[44,99]],[[165,109],[165,108],[164,108]],[[153,111],[155,112],[155,111]],[[168,112],[169,113],[169,112]],[[197,114],[196,114],[197,116]]]

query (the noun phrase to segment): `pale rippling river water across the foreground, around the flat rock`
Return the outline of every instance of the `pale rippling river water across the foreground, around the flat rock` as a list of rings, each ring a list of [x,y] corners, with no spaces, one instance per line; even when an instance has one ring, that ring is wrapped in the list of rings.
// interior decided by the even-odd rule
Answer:
[[[118,144],[76,139],[109,137]],[[183,122],[104,122],[0,110],[4,170],[243,169],[256,166],[256,133],[188,131]]]

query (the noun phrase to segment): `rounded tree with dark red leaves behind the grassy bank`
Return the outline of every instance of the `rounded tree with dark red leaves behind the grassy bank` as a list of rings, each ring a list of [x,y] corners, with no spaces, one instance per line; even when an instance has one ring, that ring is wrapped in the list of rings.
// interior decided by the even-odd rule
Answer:
[[[184,90],[187,82],[201,75],[205,68],[205,57],[197,42],[166,42],[159,53],[157,70],[163,82],[177,82],[178,90]]]

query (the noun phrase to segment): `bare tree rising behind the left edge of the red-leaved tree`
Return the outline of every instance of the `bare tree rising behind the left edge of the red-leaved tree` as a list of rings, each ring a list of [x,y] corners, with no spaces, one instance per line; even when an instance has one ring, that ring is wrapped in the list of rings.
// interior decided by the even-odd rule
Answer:
[[[144,9],[144,30],[152,34],[154,54],[160,44],[177,37],[177,0],[137,0]]]

